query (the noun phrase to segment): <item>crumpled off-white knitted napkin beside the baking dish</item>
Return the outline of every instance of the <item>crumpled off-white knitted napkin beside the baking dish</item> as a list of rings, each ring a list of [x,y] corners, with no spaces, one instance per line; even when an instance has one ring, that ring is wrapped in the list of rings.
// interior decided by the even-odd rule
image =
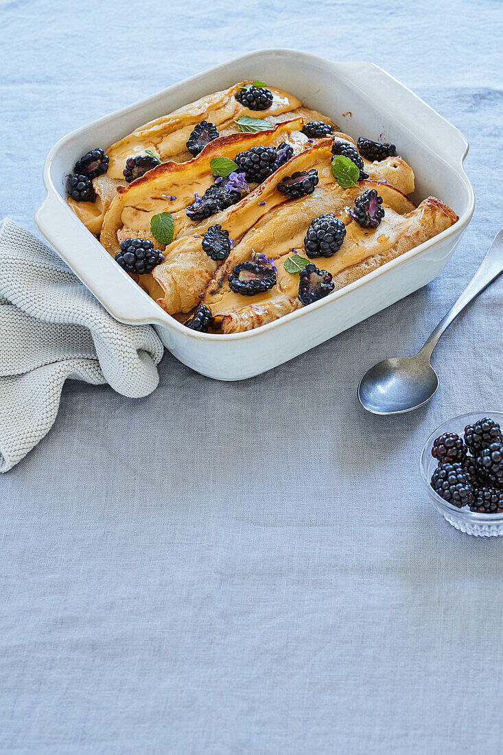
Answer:
[[[63,260],[4,220],[0,226],[0,472],[50,430],[66,378],[124,396],[157,387],[163,347],[150,325],[106,312]]]

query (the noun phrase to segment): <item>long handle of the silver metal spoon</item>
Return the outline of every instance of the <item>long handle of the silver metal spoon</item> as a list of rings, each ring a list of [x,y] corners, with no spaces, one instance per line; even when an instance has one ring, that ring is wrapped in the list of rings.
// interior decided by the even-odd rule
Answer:
[[[437,328],[434,329],[419,353],[429,358],[431,352],[440,341],[440,337],[449,328],[451,322],[464,310],[467,304],[470,304],[471,300],[478,296],[484,288],[487,288],[489,283],[492,283],[501,273],[503,273],[503,228],[494,237],[489,251],[483,258],[482,264],[471,279],[471,282],[468,283],[468,286],[464,289],[455,304],[452,304],[446,316],[440,320]]]

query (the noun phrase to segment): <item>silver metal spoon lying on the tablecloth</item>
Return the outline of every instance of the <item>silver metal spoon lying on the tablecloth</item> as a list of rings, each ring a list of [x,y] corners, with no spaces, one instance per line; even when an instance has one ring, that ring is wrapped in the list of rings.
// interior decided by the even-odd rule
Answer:
[[[438,388],[430,357],[444,331],[467,304],[503,273],[503,228],[496,234],[477,273],[424,347],[415,356],[384,359],[363,375],[358,386],[360,404],[372,414],[402,414],[428,402]]]

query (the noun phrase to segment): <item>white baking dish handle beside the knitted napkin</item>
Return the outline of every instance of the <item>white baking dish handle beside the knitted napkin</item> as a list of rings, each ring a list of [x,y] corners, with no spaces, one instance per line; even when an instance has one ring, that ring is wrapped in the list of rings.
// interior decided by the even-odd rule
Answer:
[[[154,301],[139,286],[131,285],[128,274],[119,268],[79,218],[68,212],[59,196],[48,193],[35,212],[34,220],[42,236],[113,317],[131,325],[165,325],[163,313],[156,316],[153,311],[158,308]],[[85,248],[85,257],[66,251],[79,246]],[[88,275],[90,268],[92,277]]]

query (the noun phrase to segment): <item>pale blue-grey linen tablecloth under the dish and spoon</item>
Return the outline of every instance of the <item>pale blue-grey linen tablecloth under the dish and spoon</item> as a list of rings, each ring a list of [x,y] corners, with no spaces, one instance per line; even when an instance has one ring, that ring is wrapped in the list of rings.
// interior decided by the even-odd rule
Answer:
[[[501,409],[501,282],[443,338],[427,408],[356,402],[501,226],[501,2],[0,9],[0,214],[26,227],[57,138],[264,46],[383,66],[467,135],[477,193],[440,279],[287,365],[222,384],[166,354],[143,399],[66,383],[0,479],[2,751],[501,753],[503,540],[449,527],[418,476],[440,421]]]

